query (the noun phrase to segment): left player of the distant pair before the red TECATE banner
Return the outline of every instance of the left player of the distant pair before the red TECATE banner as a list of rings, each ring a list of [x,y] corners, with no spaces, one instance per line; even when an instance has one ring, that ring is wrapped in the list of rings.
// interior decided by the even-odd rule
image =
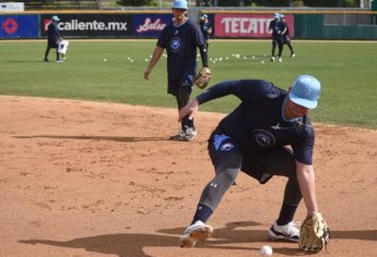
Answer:
[[[269,32],[272,32],[272,51],[271,51],[271,62],[275,61],[275,49],[276,45],[279,47],[278,60],[282,62],[283,53],[283,34],[285,33],[284,24],[280,21],[280,14],[273,14],[273,20],[270,22]]]

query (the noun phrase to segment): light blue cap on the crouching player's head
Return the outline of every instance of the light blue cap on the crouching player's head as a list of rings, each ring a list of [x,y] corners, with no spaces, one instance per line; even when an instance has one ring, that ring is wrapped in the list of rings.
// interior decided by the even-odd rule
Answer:
[[[299,75],[292,85],[290,99],[308,109],[315,109],[318,105],[320,83],[310,75]]]

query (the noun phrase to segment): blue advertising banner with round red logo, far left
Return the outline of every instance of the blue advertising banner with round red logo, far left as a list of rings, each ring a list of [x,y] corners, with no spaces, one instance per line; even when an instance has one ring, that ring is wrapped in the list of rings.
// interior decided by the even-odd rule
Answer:
[[[1,15],[1,38],[38,37],[38,15]]]

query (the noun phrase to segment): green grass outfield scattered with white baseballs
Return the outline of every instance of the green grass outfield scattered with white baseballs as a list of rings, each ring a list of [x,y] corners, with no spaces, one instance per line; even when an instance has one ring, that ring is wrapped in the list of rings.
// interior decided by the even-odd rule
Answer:
[[[263,78],[288,88],[298,74],[322,83],[314,122],[377,128],[377,44],[294,41],[296,58],[284,48],[282,63],[269,61],[270,41],[212,41],[211,84]],[[46,40],[0,41],[0,95],[40,96],[176,108],[166,94],[166,58],[143,79],[155,40],[71,41],[66,63],[44,63]],[[239,56],[236,56],[239,54]],[[106,59],[106,61],[105,61]],[[222,60],[220,60],[222,59]],[[213,62],[215,61],[215,62]],[[263,63],[262,63],[263,62]],[[195,89],[193,96],[199,94]],[[235,97],[208,102],[201,110],[228,112]]]

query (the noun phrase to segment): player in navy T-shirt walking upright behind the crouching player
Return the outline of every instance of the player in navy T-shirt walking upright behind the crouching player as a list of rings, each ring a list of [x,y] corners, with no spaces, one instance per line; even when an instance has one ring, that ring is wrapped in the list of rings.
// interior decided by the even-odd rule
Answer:
[[[164,49],[167,52],[167,93],[176,97],[178,111],[188,103],[197,72],[197,48],[200,50],[203,66],[208,68],[205,40],[198,25],[187,16],[187,1],[175,0],[173,3],[173,21],[162,30],[151,62],[144,71],[149,76],[160,60]],[[197,135],[193,120],[182,118],[178,134],[173,140],[192,140]]]

